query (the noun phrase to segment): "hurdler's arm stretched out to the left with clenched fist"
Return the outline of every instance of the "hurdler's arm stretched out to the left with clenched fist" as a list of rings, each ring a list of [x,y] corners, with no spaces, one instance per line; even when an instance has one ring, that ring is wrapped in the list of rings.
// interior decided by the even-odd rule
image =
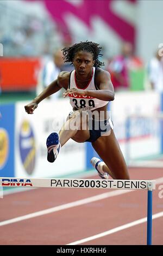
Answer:
[[[62,87],[67,89],[68,80],[70,77],[69,72],[60,72],[58,79],[54,80],[48,87],[46,87],[35,99],[28,105],[24,106],[28,114],[33,114],[33,111],[37,108],[37,105],[45,98],[51,96],[53,93],[58,92]]]

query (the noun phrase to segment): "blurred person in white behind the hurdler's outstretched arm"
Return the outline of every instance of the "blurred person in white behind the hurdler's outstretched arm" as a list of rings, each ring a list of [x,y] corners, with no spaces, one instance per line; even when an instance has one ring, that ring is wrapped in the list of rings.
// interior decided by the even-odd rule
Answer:
[[[45,63],[45,66],[43,67],[41,72],[41,81],[39,81],[39,87],[41,85],[43,88],[45,88],[49,84],[51,84],[52,81],[57,79],[58,74],[62,70],[63,64],[64,64],[64,59],[63,59],[62,51],[58,49],[57,51],[54,52],[53,59]],[[42,88],[39,88],[39,92],[37,91],[37,93],[40,93],[41,91],[42,91]],[[60,91],[55,94],[52,94],[52,96],[50,96],[49,98],[57,99],[59,95],[60,95]]]

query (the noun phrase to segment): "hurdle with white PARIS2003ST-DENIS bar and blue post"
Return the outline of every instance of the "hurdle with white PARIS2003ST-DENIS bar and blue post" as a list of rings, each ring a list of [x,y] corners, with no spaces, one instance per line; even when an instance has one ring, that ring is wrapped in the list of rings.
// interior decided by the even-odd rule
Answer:
[[[80,178],[17,178],[0,177],[0,187],[22,188],[103,188],[103,189],[146,189],[147,194],[147,245],[152,245],[152,180],[99,180]]]

